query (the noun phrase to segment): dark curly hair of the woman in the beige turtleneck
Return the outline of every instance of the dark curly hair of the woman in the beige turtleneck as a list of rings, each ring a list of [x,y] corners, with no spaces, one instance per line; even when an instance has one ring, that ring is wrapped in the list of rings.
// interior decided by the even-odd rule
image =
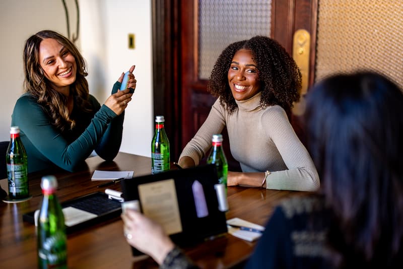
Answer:
[[[211,94],[220,97],[221,105],[230,113],[238,108],[228,84],[228,70],[232,58],[240,49],[250,50],[256,63],[261,89],[260,105],[280,105],[289,111],[293,102],[300,98],[301,73],[285,48],[266,36],[238,41],[223,50],[209,78],[208,90]]]

